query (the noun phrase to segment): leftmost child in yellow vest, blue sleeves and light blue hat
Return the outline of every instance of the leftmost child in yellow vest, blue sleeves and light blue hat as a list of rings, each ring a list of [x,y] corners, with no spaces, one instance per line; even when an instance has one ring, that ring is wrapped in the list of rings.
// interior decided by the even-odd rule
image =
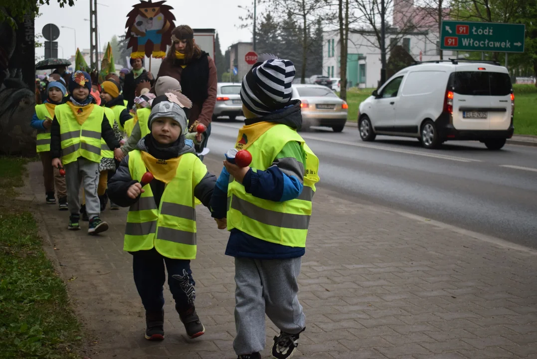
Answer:
[[[61,105],[67,92],[66,87],[59,81],[49,82],[47,86],[48,98],[44,104],[35,106],[31,126],[37,129],[36,150],[43,164],[43,180],[45,182],[45,196],[48,204],[55,204],[54,189],[57,191],[60,210],[67,210],[66,179],[57,168],[52,166],[50,156],[50,126],[54,118],[54,109]]]

